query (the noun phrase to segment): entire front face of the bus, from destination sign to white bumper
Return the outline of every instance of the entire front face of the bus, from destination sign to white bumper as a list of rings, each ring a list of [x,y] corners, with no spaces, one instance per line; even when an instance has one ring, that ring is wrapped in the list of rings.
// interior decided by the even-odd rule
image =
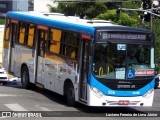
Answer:
[[[88,80],[89,106],[152,106],[154,39],[146,31],[96,33]]]

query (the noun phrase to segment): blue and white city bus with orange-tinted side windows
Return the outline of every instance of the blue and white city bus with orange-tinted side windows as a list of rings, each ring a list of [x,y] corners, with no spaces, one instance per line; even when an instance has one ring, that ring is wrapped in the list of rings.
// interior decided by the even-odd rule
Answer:
[[[69,105],[152,106],[155,39],[147,29],[37,12],[8,12],[3,66],[22,88]]]

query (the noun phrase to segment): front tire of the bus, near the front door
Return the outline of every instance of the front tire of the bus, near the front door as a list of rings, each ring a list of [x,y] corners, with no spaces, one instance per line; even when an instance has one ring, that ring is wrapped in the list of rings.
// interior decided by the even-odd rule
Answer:
[[[75,106],[76,105],[75,91],[74,91],[73,84],[71,82],[69,84],[67,84],[66,99],[67,99],[67,103],[68,103],[69,106]]]

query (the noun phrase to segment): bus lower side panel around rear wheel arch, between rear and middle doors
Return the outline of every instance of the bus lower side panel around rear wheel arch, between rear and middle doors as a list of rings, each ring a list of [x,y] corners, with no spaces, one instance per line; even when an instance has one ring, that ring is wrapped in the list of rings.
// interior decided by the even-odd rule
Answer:
[[[30,82],[34,80],[34,50],[23,45],[15,45],[15,75],[21,77],[22,64],[26,64],[29,71]]]

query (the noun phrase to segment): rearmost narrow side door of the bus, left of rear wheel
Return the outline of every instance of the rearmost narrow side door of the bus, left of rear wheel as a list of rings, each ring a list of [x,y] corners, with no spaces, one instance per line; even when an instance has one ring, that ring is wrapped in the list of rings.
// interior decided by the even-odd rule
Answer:
[[[16,40],[16,31],[18,28],[18,24],[11,24],[11,42],[10,42],[10,60],[9,60],[9,72],[14,73],[15,69],[15,40]]]

